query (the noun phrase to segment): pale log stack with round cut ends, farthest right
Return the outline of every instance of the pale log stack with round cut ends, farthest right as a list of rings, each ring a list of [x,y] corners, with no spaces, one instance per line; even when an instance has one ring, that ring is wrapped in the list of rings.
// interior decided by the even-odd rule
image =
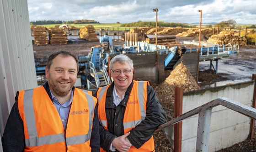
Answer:
[[[217,35],[212,35],[207,42],[211,42],[214,44],[231,44],[231,45],[240,45],[245,46],[247,44],[247,40],[245,37],[239,37],[234,35],[234,31],[221,31]]]

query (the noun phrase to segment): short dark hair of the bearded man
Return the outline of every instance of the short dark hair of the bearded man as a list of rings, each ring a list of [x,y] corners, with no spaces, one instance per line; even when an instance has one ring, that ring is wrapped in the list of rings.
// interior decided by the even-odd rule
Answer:
[[[75,56],[74,53],[72,52],[69,52],[69,51],[59,51],[59,52],[54,52],[53,54],[51,54],[48,58],[48,61],[47,61],[47,68],[50,68],[50,66],[52,65],[53,63],[53,59],[56,58],[59,54],[63,55],[64,57],[68,57],[68,56],[71,56],[75,59],[75,62],[77,64],[77,72],[79,71],[79,60],[78,58]]]

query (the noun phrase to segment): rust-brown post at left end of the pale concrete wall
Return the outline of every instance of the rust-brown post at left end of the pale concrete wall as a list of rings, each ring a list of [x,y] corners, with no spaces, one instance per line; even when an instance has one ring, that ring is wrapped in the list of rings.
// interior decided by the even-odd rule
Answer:
[[[182,115],[183,90],[175,87],[174,117]],[[174,152],[181,152],[182,121],[174,124]]]

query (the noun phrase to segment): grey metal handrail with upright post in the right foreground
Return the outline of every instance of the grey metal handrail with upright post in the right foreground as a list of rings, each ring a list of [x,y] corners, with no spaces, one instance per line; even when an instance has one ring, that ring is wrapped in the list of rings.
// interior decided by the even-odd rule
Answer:
[[[156,131],[176,124],[188,117],[199,114],[198,116],[198,127],[197,127],[197,143],[196,143],[196,152],[208,152],[208,139],[210,131],[210,122],[212,109],[215,106],[223,105],[231,110],[234,110],[242,115],[256,119],[256,109],[248,105],[241,104],[235,100],[231,100],[225,97],[215,99],[204,105],[201,105],[193,110],[190,110],[182,115],[177,116],[176,118],[171,119],[170,121],[160,125]]]

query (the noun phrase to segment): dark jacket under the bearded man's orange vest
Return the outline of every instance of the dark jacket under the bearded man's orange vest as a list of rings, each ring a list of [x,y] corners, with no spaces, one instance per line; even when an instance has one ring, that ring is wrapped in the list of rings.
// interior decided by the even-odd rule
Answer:
[[[46,89],[50,99],[52,99],[48,83],[43,87]],[[74,91],[75,87],[73,87]],[[5,131],[2,137],[2,145],[4,152],[23,152],[25,148],[24,126],[21,120],[17,99],[19,92],[17,92],[11,113],[6,122]],[[94,110],[93,126],[91,131],[91,152],[100,152],[100,136],[99,136],[99,119],[98,119],[98,106]]]

